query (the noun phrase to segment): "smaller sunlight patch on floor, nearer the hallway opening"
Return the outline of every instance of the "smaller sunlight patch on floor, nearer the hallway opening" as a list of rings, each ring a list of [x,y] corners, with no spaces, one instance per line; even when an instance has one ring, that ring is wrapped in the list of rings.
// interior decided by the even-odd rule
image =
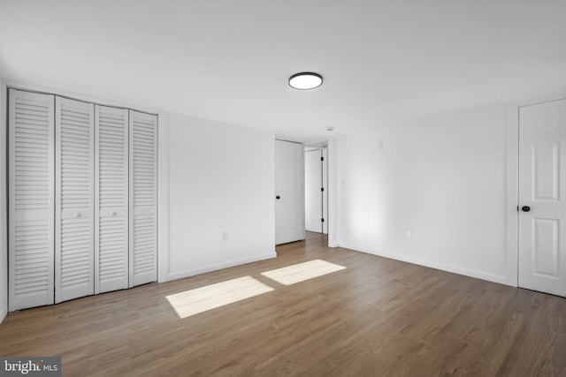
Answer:
[[[287,266],[284,268],[272,269],[271,271],[262,272],[262,275],[284,285],[304,282],[318,276],[330,274],[340,269],[340,266],[325,260],[310,260],[308,262]]]

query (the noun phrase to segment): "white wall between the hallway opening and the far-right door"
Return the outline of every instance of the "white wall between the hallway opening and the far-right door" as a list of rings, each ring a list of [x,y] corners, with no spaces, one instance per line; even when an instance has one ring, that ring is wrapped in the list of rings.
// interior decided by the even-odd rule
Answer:
[[[504,107],[340,137],[340,246],[515,283],[506,144]]]

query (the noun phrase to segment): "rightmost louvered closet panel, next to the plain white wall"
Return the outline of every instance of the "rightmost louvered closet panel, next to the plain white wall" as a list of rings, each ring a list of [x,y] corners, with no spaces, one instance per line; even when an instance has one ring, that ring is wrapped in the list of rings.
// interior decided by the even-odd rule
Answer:
[[[130,286],[157,280],[157,116],[130,110]]]

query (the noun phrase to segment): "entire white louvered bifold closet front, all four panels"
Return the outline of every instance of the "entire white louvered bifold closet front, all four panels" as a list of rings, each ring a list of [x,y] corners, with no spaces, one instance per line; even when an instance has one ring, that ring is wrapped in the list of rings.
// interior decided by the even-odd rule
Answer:
[[[9,310],[157,280],[157,116],[9,90]]]

